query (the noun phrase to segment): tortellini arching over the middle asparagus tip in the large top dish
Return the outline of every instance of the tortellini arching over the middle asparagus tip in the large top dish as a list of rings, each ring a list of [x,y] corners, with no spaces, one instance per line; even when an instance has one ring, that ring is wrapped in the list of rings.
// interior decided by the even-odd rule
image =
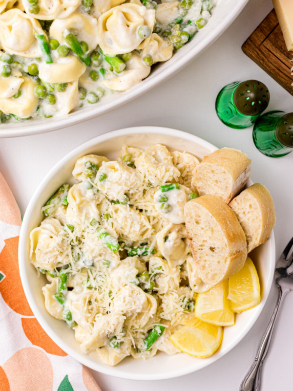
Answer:
[[[59,43],[65,43],[63,31],[73,31],[78,41],[84,41],[88,50],[96,48],[99,40],[97,20],[90,15],[75,12],[66,19],[55,19],[50,27],[50,35]]]

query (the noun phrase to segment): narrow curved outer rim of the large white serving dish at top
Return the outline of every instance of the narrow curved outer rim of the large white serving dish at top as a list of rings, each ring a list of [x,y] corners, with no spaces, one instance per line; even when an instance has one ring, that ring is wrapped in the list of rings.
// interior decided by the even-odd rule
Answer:
[[[77,125],[83,121],[90,120],[99,115],[103,115],[108,113],[113,109],[117,109],[124,104],[132,101],[133,99],[143,95],[145,92],[149,91],[151,88],[158,86],[163,83],[167,79],[169,79],[172,75],[175,75],[179,70],[183,69],[187,66],[196,56],[201,54],[205,49],[207,49],[213,42],[215,42],[224,31],[230,26],[230,24],[237,18],[240,12],[243,10],[245,5],[249,0],[238,0],[236,4],[233,5],[230,13],[221,20],[217,26],[199,43],[195,44],[194,47],[190,46],[190,50],[185,53],[185,55],[179,57],[176,63],[167,65],[164,73],[159,73],[155,75],[151,79],[145,79],[146,83],[140,85],[141,87],[130,88],[125,93],[120,94],[117,99],[109,100],[105,102],[103,105],[93,106],[92,109],[89,110],[80,110],[80,112],[75,112],[72,114],[62,115],[60,119],[58,117],[53,117],[51,120],[47,120],[44,122],[40,120],[40,122],[44,122],[42,124],[38,124],[38,120],[29,121],[27,125],[17,127],[15,129],[5,128],[5,125],[0,126],[0,138],[10,138],[10,137],[19,137],[19,136],[29,136],[32,134],[45,133],[53,130],[67,128],[70,125]],[[166,62],[167,64],[167,62]],[[3,127],[1,130],[1,127]]]

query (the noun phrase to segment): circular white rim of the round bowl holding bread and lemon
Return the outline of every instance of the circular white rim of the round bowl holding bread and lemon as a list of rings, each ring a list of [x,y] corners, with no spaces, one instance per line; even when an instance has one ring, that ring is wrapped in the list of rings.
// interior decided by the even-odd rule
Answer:
[[[251,319],[246,324],[245,328],[243,328],[243,331],[235,338],[232,343],[229,344],[229,347],[224,348],[221,350],[216,356],[209,357],[209,361],[202,360],[201,365],[198,365],[198,362],[196,364],[197,368],[192,368],[192,366],[189,366],[187,369],[178,369],[176,371],[173,371],[169,374],[135,374],[135,373],[128,373],[124,372],[123,370],[119,369],[119,367],[104,367],[101,366],[99,363],[93,363],[91,360],[88,359],[88,356],[84,355],[82,352],[77,353],[73,348],[71,348],[69,345],[63,342],[60,335],[58,335],[55,331],[53,331],[50,326],[47,325],[45,319],[42,316],[41,311],[38,309],[38,305],[35,304],[34,296],[30,290],[30,284],[29,279],[26,275],[25,271],[25,245],[26,245],[26,238],[28,233],[28,225],[30,221],[30,216],[33,213],[34,205],[40,195],[42,195],[42,192],[44,188],[46,187],[47,183],[54,177],[55,174],[57,174],[60,169],[64,166],[64,164],[72,159],[74,156],[80,155],[81,152],[88,148],[94,148],[99,143],[104,142],[109,139],[113,139],[119,136],[124,135],[130,135],[130,134],[147,134],[147,133],[155,133],[160,135],[170,135],[170,131],[172,136],[179,137],[186,139],[188,141],[192,141],[195,143],[198,143],[199,145],[211,150],[215,151],[218,148],[214,145],[210,144],[208,141],[203,140],[202,138],[195,136],[191,133],[184,132],[182,130],[175,130],[171,128],[162,128],[162,127],[132,127],[132,128],[125,128],[121,130],[113,130],[108,133],[104,133],[102,135],[99,135],[97,137],[94,137],[85,143],[81,144],[77,148],[73,149],[69,153],[67,153],[59,162],[57,162],[54,167],[44,176],[42,179],[40,185],[37,187],[36,191],[34,192],[23,217],[22,225],[21,225],[21,233],[20,233],[20,240],[19,240],[19,268],[20,268],[20,275],[21,275],[21,283],[23,286],[23,290],[26,296],[26,299],[28,301],[28,304],[31,307],[31,310],[33,311],[36,319],[44,329],[44,331],[47,333],[47,335],[60,347],[62,348],[67,354],[75,358],[80,363],[84,364],[85,366],[94,369],[96,371],[99,371],[101,373],[104,373],[106,375],[118,377],[118,378],[124,378],[128,380],[165,380],[165,379],[171,379],[174,377],[179,377],[186,375],[188,373],[195,372],[199,369],[202,369],[204,367],[209,366],[210,364],[214,363],[221,357],[223,357],[225,354],[227,354],[232,348],[234,348],[244,337],[245,335],[250,331],[251,327],[254,325],[256,320],[258,319],[260,313],[262,312],[264,305],[266,304],[266,301],[268,299],[269,293],[271,291],[272,287],[272,281],[273,281],[273,274],[274,274],[274,266],[275,266],[275,240],[274,240],[274,233],[272,231],[272,234],[270,236],[270,239],[268,242],[270,243],[270,255],[271,255],[271,267],[269,269],[269,277],[267,280],[267,289],[264,291],[263,298],[261,302],[257,305],[257,310],[254,312],[254,314],[251,316]],[[250,180],[250,184],[253,182]]]

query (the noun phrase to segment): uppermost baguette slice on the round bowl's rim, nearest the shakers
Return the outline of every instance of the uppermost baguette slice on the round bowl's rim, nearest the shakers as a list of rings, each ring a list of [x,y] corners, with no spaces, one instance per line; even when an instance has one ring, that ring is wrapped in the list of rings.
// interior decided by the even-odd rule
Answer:
[[[246,185],[251,160],[232,148],[222,148],[205,156],[194,169],[191,185],[198,195],[217,195],[229,203]]]

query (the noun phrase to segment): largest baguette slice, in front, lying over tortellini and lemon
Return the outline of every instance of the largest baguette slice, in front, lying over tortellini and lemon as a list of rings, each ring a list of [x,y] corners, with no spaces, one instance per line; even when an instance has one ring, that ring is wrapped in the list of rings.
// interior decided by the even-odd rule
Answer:
[[[204,292],[237,273],[247,258],[246,237],[231,208],[216,195],[202,195],[184,208],[189,246]]]

